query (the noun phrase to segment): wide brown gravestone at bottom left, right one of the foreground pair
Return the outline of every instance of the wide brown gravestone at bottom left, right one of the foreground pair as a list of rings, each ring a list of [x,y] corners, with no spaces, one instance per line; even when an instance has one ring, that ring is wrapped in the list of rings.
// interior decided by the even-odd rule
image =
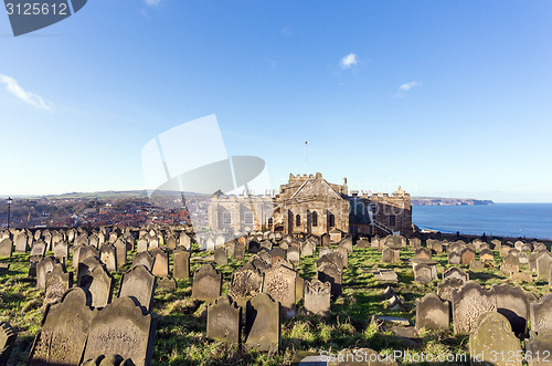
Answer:
[[[134,365],[150,365],[156,325],[130,297],[119,297],[96,313],[88,331],[84,359],[120,355]]]

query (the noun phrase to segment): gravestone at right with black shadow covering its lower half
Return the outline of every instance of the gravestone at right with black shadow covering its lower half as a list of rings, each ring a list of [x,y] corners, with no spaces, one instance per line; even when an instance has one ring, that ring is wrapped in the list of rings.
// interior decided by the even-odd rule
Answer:
[[[492,286],[497,311],[510,322],[514,334],[526,334],[529,320],[529,297],[520,287],[509,284]]]

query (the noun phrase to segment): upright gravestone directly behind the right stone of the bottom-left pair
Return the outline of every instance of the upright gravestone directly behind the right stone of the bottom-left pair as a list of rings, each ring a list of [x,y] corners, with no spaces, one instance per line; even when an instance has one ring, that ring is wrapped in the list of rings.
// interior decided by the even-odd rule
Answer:
[[[131,297],[149,312],[153,301],[156,283],[156,276],[145,265],[135,265],[130,271],[123,274],[118,297]]]

